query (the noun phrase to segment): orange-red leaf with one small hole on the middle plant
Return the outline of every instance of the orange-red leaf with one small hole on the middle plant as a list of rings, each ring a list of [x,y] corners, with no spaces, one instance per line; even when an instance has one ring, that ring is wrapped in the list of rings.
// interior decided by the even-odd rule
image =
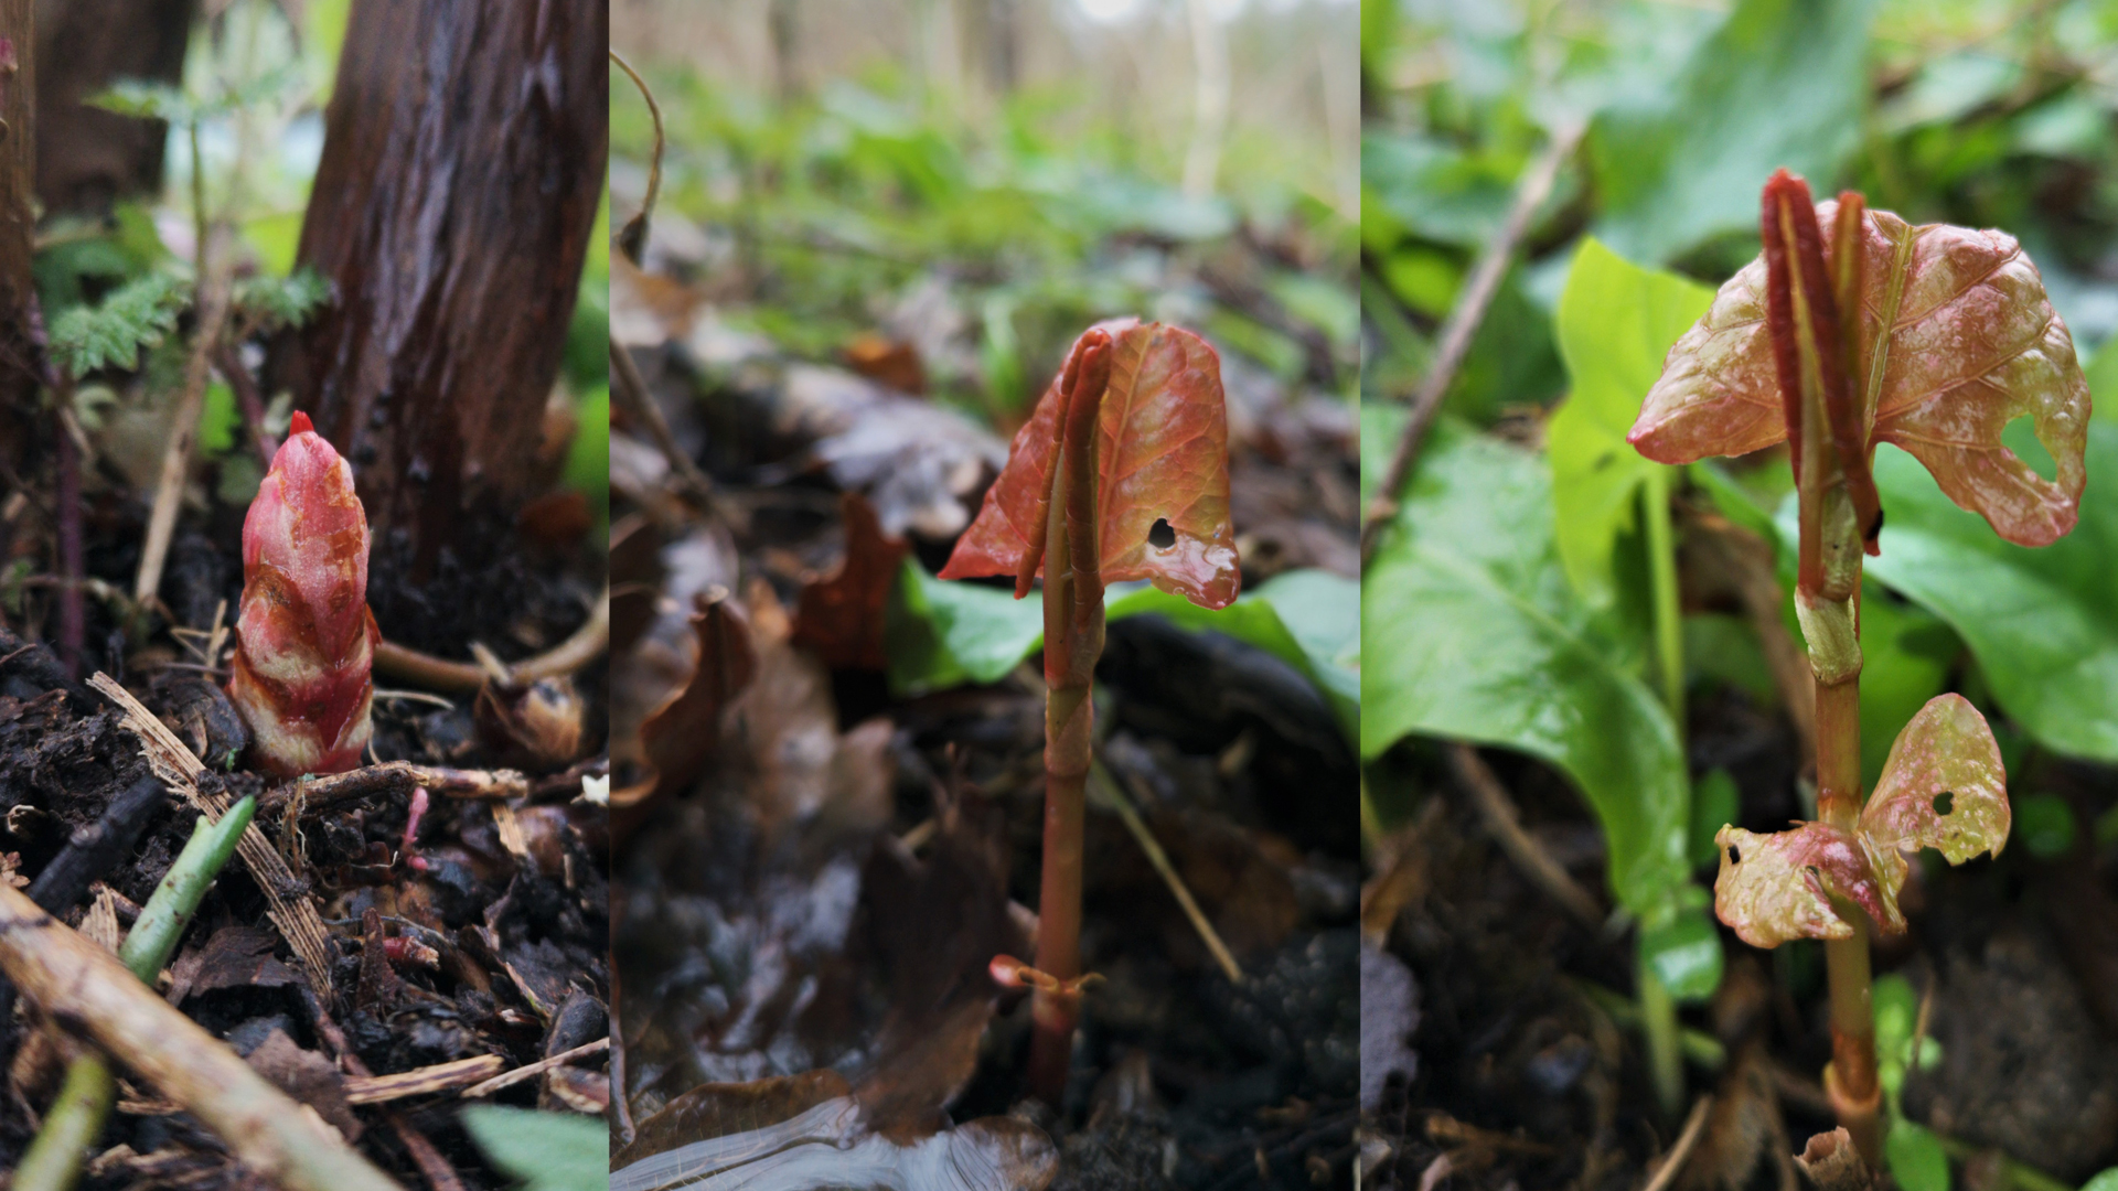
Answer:
[[[1241,589],[1241,570],[1228,523],[1220,356],[1205,339],[1159,322],[1114,320],[1093,331],[1112,341],[1110,384],[1097,415],[1101,579],[1146,579],[1203,608],[1226,608]],[[943,579],[1015,574],[1031,549],[1042,523],[1038,504],[1051,494],[1063,377],[1065,369],[1015,434],[1008,466],[985,492],[979,519],[957,538]],[[1169,523],[1171,545],[1150,540],[1156,521]]]

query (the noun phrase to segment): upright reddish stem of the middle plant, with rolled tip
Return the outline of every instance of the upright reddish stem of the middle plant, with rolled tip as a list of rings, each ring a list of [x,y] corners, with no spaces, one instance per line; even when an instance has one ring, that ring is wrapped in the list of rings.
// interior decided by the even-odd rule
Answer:
[[[1103,581],[1095,523],[1095,422],[1110,384],[1110,337],[1084,339],[1061,381],[1065,403],[1044,504],[1044,879],[1038,890],[1038,968],[1061,990],[1031,996],[1029,1091],[1065,1100],[1080,1017],[1082,805],[1095,746],[1091,682],[1103,653]],[[1027,570],[1036,562],[1025,564]]]

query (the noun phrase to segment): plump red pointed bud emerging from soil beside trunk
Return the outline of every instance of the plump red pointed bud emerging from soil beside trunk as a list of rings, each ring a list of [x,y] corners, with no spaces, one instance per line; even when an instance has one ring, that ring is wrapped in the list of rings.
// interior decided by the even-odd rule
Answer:
[[[354,468],[294,413],[244,517],[244,604],[229,697],[250,723],[252,767],[341,774],[369,746],[369,517]]]

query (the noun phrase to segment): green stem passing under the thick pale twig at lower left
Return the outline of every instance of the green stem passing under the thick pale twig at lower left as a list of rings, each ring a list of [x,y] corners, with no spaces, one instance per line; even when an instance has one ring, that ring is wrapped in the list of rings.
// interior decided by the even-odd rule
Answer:
[[[140,909],[131,932],[119,945],[119,960],[140,983],[152,985],[161,966],[169,962],[169,952],[182,939],[191,916],[199,911],[205,890],[214,877],[235,856],[235,843],[250,826],[250,816],[258,801],[246,797],[220,816],[220,822],[199,818],[191,831],[191,841],[169,865],[169,871],[155,886],[155,896]],[[110,1062],[87,1051],[66,1068],[66,1085],[53,1100],[44,1127],[38,1130],[30,1149],[21,1155],[13,1191],[66,1191],[80,1178],[80,1159],[110,1119],[110,1104],[116,1102],[116,1077]]]

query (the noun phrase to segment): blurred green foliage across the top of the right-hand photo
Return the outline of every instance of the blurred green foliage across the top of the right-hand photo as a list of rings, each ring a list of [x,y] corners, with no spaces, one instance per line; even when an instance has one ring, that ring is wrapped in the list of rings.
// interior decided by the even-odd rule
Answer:
[[[1720,284],[1777,165],[1913,223],[2002,227],[2084,350],[2118,328],[2118,4],[2103,0],[1400,0],[1362,11],[1366,388],[1417,384],[1514,180],[1591,121],[1449,409],[1565,388],[1550,322],[1593,233]]]

